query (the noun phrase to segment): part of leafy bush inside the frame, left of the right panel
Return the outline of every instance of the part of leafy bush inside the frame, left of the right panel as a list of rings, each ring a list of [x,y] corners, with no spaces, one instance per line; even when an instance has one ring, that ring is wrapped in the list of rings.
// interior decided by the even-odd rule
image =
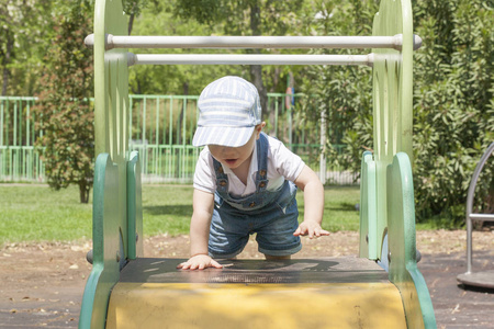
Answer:
[[[319,35],[371,35],[375,1],[316,1],[319,13],[314,31]],[[317,54],[358,54],[353,49],[324,49]],[[307,69],[303,91],[310,94],[304,106],[308,121],[316,122],[324,113],[327,122],[326,156],[355,172],[360,158],[372,148],[372,75],[367,67],[314,66]],[[347,145],[339,154],[334,145]]]

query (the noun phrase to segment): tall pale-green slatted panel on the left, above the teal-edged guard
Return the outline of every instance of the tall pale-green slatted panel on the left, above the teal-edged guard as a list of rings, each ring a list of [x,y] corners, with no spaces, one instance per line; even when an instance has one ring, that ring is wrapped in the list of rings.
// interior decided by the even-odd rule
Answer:
[[[122,1],[99,0],[94,3],[94,138],[96,154],[109,154],[119,170],[119,189],[108,191],[117,195],[112,234],[122,235],[125,257],[127,250],[126,160],[128,157],[128,69],[126,49],[105,50],[105,34],[127,34],[127,19]],[[105,219],[106,220],[106,219]],[[109,232],[110,234],[110,232]]]

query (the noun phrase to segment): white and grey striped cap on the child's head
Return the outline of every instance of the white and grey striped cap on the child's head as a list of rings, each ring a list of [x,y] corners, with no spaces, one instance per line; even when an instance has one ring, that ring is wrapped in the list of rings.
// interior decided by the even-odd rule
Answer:
[[[193,146],[243,146],[261,123],[259,93],[252,83],[239,77],[223,77],[207,84],[198,106]]]

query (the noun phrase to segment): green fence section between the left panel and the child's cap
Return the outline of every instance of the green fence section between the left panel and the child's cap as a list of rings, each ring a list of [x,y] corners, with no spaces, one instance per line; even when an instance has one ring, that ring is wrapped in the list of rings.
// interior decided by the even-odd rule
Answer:
[[[130,148],[138,150],[144,182],[190,182],[198,97],[130,95]]]

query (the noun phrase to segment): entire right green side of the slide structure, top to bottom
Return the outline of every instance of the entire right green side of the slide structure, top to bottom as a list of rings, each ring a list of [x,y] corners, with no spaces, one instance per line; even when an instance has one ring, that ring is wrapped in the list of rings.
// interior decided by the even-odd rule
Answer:
[[[372,34],[401,34],[403,45],[401,50],[372,49],[374,149],[373,158],[368,154],[362,158],[361,234],[367,231],[368,238],[360,237],[360,256],[380,258],[383,237],[388,232],[390,280],[402,294],[408,328],[436,328],[430,296],[415,261],[411,168],[414,52],[411,1],[382,0],[374,16]],[[371,173],[373,170],[375,190],[370,188],[374,180]],[[375,219],[372,217],[374,209]],[[372,234],[375,229],[375,237],[371,228]],[[374,250],[375,254],[372,253]]]

